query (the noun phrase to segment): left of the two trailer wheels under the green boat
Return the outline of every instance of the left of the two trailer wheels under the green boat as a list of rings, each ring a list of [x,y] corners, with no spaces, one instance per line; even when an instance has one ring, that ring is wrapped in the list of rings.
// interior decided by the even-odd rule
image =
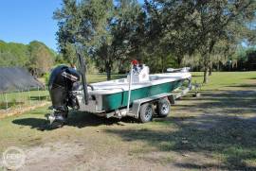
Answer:
[[[150,122],[153,118],[154,110],[153,105],[150,103],[145,103],[139,108],[139,121],[141,123]]]

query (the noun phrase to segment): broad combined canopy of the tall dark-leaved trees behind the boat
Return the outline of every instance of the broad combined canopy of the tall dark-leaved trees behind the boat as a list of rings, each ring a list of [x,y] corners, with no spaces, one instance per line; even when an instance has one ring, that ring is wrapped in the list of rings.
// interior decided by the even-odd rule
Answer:
[[[64,0],[54,18],[64,59],[73,61],[80,43],[108,78],[114,65],[121,71],[133,58],[154,71],[197,59],[207,82],[212,66],[227,61],[239,44],[254,43],[255,9],[254,0]]]

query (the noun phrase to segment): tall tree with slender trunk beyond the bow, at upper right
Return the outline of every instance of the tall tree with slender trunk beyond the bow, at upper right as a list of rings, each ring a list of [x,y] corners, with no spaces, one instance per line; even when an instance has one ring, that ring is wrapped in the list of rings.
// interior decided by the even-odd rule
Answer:
[[[255,18],[255,1],[196,1],[193,4],[197,13],[195,34],[198,51],[204,64],[204,83],[208,82],[210,55],[214,46],[222,40],[228,43],[247,29],[247,22]]]

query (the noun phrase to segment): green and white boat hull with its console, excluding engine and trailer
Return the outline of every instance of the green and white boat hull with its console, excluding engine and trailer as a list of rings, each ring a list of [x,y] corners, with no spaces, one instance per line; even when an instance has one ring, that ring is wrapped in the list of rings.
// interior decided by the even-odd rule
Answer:
[[[131,84],[131,98],[129,105],[134,100],[154,96],[157,94],[172,93],[181,87],[185,80],[190,80],[192,75],[187,69],[180,72],[149,75],[148,67],[143,66],[139,73],[133,72]],[[145,71],[144,71],[145,70]],[[90,103],[83,105],[82,91],[78,92],[80,111],[109,112],[127,107],[129,94],[129,76],[110,81],[90,84],[93,89],[88,91],[91,96]],[[141,77],[145,77],[142,78]],[[95,100],[95,103],[93,102]]]

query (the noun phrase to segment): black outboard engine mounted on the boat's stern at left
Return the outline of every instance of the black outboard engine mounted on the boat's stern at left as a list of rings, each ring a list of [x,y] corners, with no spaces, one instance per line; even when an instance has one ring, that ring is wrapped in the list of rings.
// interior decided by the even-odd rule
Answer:
[[[54,113],[49,116],[50,124],[57,122],[63,125],[66,121],[68,107],[78,109],[73,87],[79,84],[80,74],[73,68],[61,65],[53,69],[49,77],[49,94]]]

